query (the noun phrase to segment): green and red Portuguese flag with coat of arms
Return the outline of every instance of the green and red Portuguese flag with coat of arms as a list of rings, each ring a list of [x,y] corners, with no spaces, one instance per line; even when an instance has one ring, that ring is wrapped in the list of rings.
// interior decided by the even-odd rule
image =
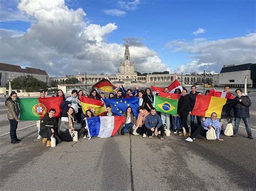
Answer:
[[[62,97],[39,97],[39,98],[19,98],[19,109],[21,121],[38,121],[41,120],[51,108],[56,109],[55,118],[60,117],[60,104],[63,102]]]

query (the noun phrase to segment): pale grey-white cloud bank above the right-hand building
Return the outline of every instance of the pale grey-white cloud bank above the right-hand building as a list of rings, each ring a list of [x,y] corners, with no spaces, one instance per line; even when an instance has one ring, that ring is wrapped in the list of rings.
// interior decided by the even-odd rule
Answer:
[[[202,72],[204,69],[219,73],[223,65],[256,62],[256,33],[212,41],[206,39],[173,40],[167,43],[166,47],[173,52],[187,52],[191,55],[194,61],[183,67],[188,73]]]

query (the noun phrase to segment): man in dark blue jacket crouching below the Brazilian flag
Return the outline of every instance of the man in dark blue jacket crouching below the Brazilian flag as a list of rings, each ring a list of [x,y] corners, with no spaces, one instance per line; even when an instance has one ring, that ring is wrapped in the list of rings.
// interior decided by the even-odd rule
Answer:
[[[164,140],[164,125],[161,120],[161,117],[157,115],[156,108],[151,108],[150,114],[146,116],[145,127],[147,131],[147,135],[149,138],[152,138],[153,132],[154,135],[158,135],[158,131],[160,132],[160,140]]]

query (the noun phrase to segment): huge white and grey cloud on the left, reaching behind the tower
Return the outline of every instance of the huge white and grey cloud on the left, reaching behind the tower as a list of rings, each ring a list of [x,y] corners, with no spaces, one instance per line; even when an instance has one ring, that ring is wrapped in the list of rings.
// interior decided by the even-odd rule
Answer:
[[[22,0],[18,8],[36,22],[23,36],[5,35],[1,39],[2,62],[26,63],[58,76],[85,70],[87,74],[115,74],[124,61],[124,45],[107,43],[107,37],[117,30],[115,23],[85,23],[83,9],[69,9],[60,0]],[[156,52],[136,43],[131,43],[130,53],[139,72],[170,69]]]

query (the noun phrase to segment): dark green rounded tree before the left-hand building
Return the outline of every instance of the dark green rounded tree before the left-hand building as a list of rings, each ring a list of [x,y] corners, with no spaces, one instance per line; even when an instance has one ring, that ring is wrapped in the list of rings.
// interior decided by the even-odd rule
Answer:
[[[9,83],[6,83],[6,88],[9,88]],[[26,92],[40,91],[47,89],[47,83],[42,82],[31,75],[16,77],[11,82],[11,89],[22,89]]]

